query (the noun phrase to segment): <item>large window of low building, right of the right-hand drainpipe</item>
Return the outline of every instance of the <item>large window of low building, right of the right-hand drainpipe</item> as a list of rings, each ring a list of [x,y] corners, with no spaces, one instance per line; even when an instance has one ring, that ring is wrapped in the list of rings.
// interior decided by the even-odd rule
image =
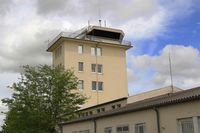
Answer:
[[[180,133],[194,133],[194,125],[192,118],[180,119],[179,122],[179,131]]]

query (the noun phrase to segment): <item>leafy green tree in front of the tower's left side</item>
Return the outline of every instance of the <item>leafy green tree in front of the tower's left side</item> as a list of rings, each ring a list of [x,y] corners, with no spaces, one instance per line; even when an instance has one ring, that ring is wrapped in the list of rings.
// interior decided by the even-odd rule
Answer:
[[[76,117],[86,97],[78,93],[71,70],[48,65],[24,66],[20,81],[10,88],[3,133],[56,133],[58,123]],[[67,114],[67,115],[66,115]]]

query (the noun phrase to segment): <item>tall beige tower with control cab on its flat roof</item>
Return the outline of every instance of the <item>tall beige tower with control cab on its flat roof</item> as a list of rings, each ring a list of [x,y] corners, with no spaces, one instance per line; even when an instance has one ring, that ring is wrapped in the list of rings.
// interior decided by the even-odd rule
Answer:
[[[60,33],[49,43],[53,65],[73,69],[78,89],[88,97],[83,108],[128,96],[126,50],[118,29],[89,26],[74,33]]]

